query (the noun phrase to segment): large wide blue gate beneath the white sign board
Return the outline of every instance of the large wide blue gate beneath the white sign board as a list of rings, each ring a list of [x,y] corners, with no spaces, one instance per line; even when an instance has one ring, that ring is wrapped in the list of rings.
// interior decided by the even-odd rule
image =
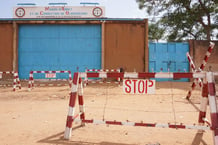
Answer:
[[[18,71],[101,68],[101,25],[20,25]],[[60,75],[57,78],[67,78]],[[43,78],[44,75],[34,76]]]

